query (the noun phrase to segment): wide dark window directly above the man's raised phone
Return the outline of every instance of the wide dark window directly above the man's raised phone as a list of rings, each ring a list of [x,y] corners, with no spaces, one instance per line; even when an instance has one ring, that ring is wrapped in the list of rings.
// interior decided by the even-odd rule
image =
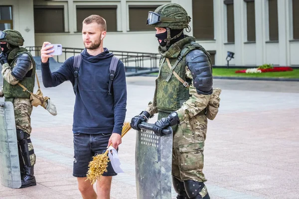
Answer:
[[[64,32],[63,5],[34,6],[35,32]]]

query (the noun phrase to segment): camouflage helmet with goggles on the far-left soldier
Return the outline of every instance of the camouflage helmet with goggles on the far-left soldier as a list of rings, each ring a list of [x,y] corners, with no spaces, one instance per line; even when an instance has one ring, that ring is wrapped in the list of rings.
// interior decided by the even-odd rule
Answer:
[[[14,46],[22,46],[24,44],[21,33],[9,29],[0,31],[0,41],[5,41]]]

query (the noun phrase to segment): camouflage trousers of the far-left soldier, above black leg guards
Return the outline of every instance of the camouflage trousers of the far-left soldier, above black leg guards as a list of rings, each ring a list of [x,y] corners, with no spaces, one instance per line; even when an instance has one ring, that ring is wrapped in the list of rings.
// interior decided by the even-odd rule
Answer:
[[[32,112],[32,105],[30,103],[30,100],[24,98],[14,98],[14,99],[5,99],[5,101],[11,101],[13,103],[16,129],[20,129],[29,135],[29,137],[27,138],[27,142],[28,142],[28,149],[30,154],[30,163],[33,166],[35,164],[36,156],[34,152],[32,153],[33,145],[30,139],[30,134],[32,130],[31,119],[30,119],[30,115]]]

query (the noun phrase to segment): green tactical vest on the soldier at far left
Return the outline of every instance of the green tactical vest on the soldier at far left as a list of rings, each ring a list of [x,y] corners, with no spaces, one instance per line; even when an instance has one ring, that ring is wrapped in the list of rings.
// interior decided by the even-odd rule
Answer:
[[[24,48],[19,48],[19,50],[17,52],[11,51],[10,53],[16,54],[16,56],[14,56],[14,58],[12,59],[11,62],[9,62],[9,60],[8,60],[11,69],[13,69],[13,67],[15,67],[16,60],[17,60],[18,56],[20,56],[23,53],[26,53],[30,56],[33,68],[31,71],[29,71],[26,74],[24,79],[22,81],[20,81],[19,83],[22,84],[24,87],[26,87],[28,89],[28,91],[33,92],[34,82],[35,82],[35,62],[33,60],[32,55],[30,53],[26,52]],[[27,75],[30,75],[30,76],[27,77]],[[19,85],[17,85],[17,84],[11,85],[5,79],[3,79],[3,94],[5,97],[5,101],[9,101],[13,98],[27,98],[27,99],[30,98],[30,94],[28,92],[23,92],[23,89]]]

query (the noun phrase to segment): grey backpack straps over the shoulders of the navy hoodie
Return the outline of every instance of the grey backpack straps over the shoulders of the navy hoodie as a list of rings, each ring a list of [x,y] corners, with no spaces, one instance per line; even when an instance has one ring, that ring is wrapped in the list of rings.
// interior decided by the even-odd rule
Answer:
[[[116,71],[117,64],[118,64],[119,60],[120,60],[119,58],[117,58],[116,56],[113,56],[112,60],[111,60],[111,63],[110,63],[108,95],[111,95],[111,87],[112,87],[112,83],[113,83],[113,80],[114,80],[114,73]],[[75,94],[76,94],[76,91],[77,91],[78,71],[80,69],[81,61],[82,61],[82,55],[81,54],[78,54],[78,55],[74,56],[74,65],[73,65],[73,67],[74,67],[74,70],[75,70],[74,71],[75,84],[74,84],[73,90],[74,90]]]

